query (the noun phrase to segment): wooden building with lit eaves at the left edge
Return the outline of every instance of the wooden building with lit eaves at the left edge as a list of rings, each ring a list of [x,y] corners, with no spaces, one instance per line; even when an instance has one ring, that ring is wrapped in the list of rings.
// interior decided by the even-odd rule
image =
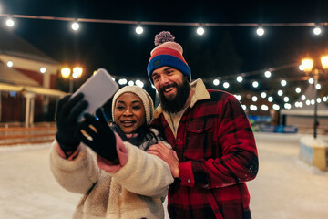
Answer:
[[[0,122],[53,121],[60,63],[12,31],[0,28]],[[43,72],[43,73],[42,73]]]

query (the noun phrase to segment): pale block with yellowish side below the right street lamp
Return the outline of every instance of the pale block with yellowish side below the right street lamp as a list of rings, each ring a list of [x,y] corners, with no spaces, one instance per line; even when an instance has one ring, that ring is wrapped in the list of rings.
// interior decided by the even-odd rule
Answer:
[[[300,140],[300,158],[320,169],[328,171],[328,143],[313,137],[303,137]]]

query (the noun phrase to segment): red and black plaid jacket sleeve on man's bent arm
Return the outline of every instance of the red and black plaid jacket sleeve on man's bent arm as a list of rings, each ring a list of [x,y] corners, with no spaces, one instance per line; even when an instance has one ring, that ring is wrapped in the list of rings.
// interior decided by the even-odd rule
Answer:
[[[206,161],[193,161],[191,165],[181,162],[179,169],[188,172],[181,175],[181,184],[190,187],[198,184],[208,189],[225,187],[250,181],[258,172],[255,139],[240,102],[232,95],[221,100],[223,104],[216,133],[221,156]]]

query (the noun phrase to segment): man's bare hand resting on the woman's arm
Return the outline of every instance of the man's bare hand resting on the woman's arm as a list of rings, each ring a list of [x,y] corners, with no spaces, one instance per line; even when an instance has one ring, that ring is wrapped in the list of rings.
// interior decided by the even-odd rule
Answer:
[[[179,178],[179,159],[176,151],[167,148],[162,142],[159,142],[158,144],[151,145],[147,152],[167,162],[172,176]]]

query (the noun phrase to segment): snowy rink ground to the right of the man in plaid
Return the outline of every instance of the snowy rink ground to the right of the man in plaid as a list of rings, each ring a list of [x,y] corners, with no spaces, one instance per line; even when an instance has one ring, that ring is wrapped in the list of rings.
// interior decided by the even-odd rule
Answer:
[[[302,135],[255,135],[260,168],[247,183],[253,218],[327,218],[328,173],[299,159]]]

